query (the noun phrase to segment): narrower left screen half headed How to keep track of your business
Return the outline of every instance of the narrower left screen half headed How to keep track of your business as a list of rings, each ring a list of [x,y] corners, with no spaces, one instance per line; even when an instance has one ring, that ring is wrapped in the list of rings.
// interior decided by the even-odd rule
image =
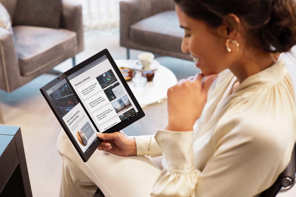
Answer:
[[[81,103],[75,96],[72,88],[63,79],[54,87],[46,91],[52,101],[52,107],[56,108],[58,115],[63,119],[70,130],[73,139],[80,149],[86,154],[90,146],[98,141],[96,129],[91,123]]]

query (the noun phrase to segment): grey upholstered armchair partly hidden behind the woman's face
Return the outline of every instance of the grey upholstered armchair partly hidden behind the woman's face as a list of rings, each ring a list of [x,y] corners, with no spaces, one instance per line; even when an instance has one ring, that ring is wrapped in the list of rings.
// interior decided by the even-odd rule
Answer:
[[[172,0],[121,0],[120,46],[192,60],[181,52],[184,31]]]

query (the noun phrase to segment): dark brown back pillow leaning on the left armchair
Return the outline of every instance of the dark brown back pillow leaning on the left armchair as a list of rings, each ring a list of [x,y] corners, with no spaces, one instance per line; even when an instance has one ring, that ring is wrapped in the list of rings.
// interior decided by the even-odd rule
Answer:
[[[19,0],[12,25],[59,28],[62,0]]]

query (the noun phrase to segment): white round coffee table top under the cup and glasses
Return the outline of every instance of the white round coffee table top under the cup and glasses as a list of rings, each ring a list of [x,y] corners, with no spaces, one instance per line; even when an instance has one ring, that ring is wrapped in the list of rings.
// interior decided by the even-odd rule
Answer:
[[[115,60],[118,67],[133,69],[138,60]],[[157,102],[164,102],[167,97],[168,88],[177,83],[177,78],[170,69],[158,65],[154,71],[154,78],[147,82],[145,87],[135,87],[131,81],[127,81],[128,86],[138,100],[142,108]]]

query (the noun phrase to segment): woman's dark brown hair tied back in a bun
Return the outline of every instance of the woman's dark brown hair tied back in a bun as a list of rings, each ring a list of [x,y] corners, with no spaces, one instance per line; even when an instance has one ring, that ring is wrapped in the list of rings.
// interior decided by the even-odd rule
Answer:
[[[266,52],[287,52],[296,45],[295,0],[174,0],[189,17],[216,28],[227,14],[236,14],[246,41]]]

